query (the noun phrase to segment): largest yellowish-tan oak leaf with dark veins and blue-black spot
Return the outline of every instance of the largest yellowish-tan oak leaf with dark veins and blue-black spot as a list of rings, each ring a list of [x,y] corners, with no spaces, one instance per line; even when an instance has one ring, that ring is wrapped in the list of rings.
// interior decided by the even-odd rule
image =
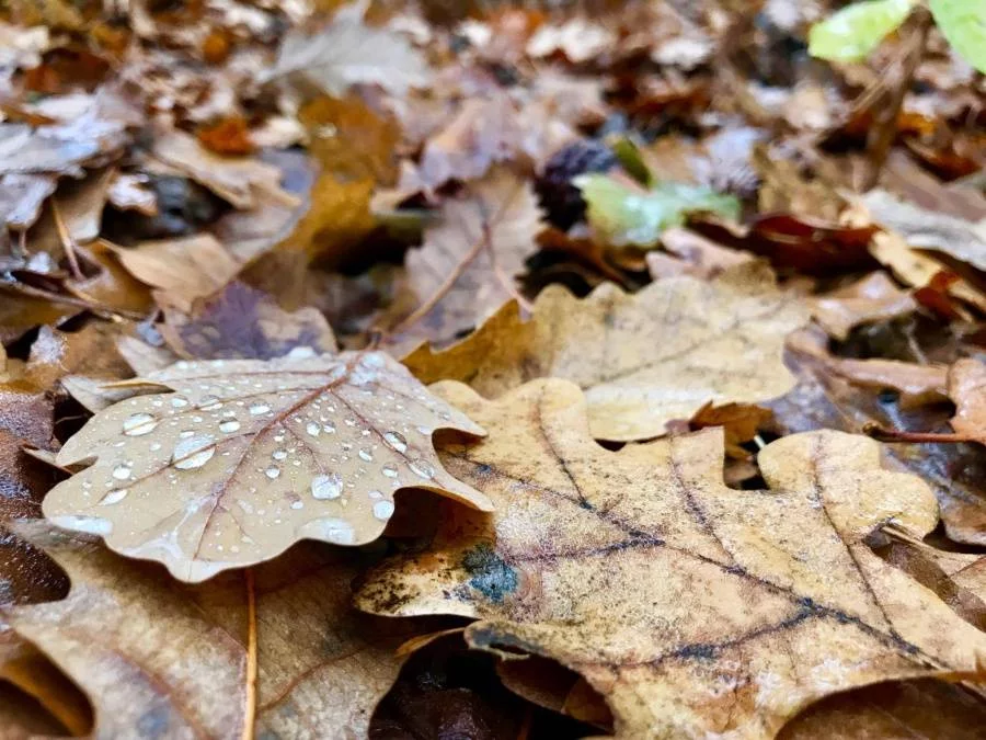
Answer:
[[[385,561],[358,607],[475,617],[477,648],[558,660],[604,695],[619,737],[772,737],[813,701],[882,680],[972,670],[986,635],[864,544],[937,524],[880,445],[800,434],[759,455],[771,490],[721,479],[722,435],[607,452],[577,386],[498,401],[435,391],[490,430],[443,453],[496,504],[450,513],[432,548]]]

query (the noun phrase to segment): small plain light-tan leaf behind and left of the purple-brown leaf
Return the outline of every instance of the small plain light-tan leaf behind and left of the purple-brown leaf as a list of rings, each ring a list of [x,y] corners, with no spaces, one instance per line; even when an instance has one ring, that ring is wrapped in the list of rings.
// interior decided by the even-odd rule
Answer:
[[[145,241],[136,247],[112,247],[134,277],[158,289],[158,295],[188,312],[197,298],[221,291],[242,269],[219,241],[202,234],[181,239]]]

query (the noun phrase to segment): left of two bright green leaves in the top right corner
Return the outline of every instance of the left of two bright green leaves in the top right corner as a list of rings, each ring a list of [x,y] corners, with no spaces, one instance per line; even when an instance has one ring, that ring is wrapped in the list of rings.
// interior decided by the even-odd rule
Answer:
[[[833,61],[858,61],[907,20],[915,1],[870,0],[844,8],[812,26],[809,54]]]

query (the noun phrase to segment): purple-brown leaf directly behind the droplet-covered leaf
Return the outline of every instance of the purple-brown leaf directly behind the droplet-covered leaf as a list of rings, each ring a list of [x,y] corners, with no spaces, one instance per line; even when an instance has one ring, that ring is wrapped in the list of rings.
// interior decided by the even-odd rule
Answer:
[[[314,308],[291,314],[266,293],[239,281],[196,306],[191,315],[164,309],[161,334],[179,355],[192,360],[272,360],[308,348],[335,352],[332,328]]]

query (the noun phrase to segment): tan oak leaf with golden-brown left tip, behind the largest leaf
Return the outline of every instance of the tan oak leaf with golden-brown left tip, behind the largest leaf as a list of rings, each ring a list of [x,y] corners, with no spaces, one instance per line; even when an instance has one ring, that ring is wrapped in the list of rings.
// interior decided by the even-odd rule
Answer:
[[[708,401],[757,402],[789,390],[784,337],[805,320],[769,269],[748,264],[713,282],[672,277],[635,295],[606,284],[580,300],[549,286],[531,320],[512,303],[459,344],[419,348],[404,362],[424,383],[468,382],[488,397],[531,378],[574,380],[596,439],[646,440]]]

